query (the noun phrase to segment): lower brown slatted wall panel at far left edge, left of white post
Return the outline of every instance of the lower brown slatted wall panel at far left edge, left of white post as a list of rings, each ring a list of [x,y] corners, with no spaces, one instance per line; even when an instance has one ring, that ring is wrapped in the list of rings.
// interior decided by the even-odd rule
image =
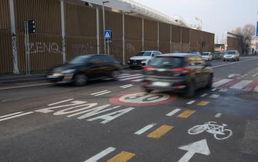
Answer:
[[[8,73],[13,70],[11,32],[0,30],[0,73]]]

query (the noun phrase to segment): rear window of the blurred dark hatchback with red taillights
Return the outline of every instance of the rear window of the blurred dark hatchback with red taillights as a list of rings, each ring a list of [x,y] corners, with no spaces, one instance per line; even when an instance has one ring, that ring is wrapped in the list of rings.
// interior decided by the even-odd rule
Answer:
[[[155,67],[169,67],[169,68],[180,68],[182,67],[181,57],[154,57],[149,62],[149,65]]]

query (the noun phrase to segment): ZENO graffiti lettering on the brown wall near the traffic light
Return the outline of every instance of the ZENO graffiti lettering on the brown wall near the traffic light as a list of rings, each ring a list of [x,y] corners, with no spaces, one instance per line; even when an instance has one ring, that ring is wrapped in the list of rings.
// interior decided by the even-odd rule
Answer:
[[[36,42],[36,43],[30,43],[28,45],[28,52],[29,53],[54,53],[54,54],[60,54],[60,49],[57,43],[50,42]]]

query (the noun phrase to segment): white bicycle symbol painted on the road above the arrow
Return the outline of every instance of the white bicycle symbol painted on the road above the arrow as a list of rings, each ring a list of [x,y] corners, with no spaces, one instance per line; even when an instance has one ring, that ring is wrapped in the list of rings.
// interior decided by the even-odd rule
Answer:
[[[217,122],[215,121],[208,121],[204,123],[203,125],[195,125],[193,128],[190,128],[188,130],[189,134],[200,134],[206,130],[206,132],[209,132],[211,134],[214,134],[214,138],[217,140],[223,140],[228,139],[230,136],[232,136],[233,132],[230,129],[224,129],[226,127],[226,124],[217,125]]]

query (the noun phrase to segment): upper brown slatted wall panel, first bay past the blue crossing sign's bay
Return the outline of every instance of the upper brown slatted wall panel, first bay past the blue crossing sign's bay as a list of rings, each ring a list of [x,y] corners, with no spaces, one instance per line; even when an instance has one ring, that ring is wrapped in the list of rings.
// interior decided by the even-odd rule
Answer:
[[[142,40],[142,19],[125,14],[125,39]]]

